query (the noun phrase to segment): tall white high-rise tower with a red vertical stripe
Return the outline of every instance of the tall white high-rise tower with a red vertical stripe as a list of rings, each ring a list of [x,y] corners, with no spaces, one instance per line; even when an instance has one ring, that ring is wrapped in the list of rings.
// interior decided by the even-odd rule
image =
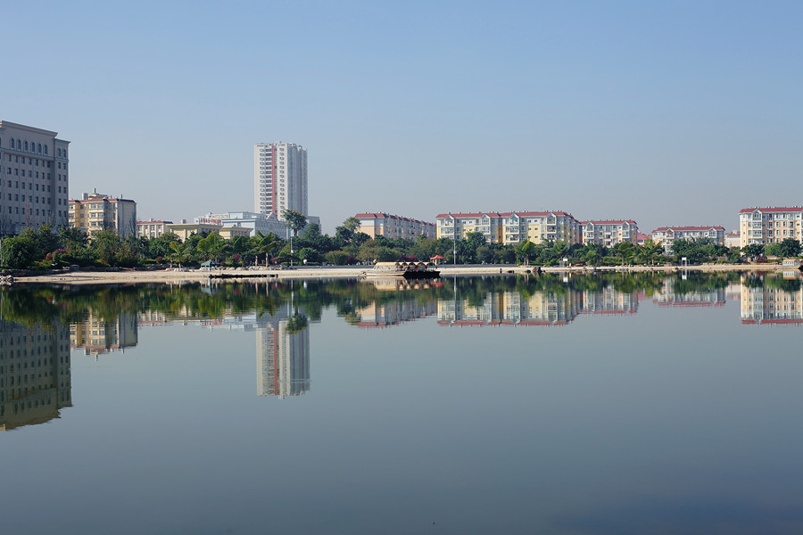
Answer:
[[[293,143],[253,145],[253,211],[307,215],[307,150]]]

